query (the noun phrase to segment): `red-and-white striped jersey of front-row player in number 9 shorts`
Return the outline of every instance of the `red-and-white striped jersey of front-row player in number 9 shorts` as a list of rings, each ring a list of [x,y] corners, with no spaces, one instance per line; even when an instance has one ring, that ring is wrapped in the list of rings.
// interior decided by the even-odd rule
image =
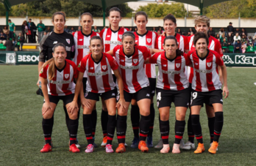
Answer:
[[[221,56],[214,50],[208,50],[204,59],[199,58],[195,51],[191,51],[185,57],[187,65],[193,65],[192,88],[196,91],[214,91],[221,89],[221,81],[218,77],[218,66],[223,66]]]

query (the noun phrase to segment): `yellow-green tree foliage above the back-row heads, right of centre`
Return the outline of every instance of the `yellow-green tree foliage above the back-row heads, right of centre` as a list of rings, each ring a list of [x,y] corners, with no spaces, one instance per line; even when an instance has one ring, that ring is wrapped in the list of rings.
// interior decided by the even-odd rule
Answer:
[[[146,12],[149,18],[163,18],[168,14],[174,15],[176,18],[184,18],[187,13],[182,3],[148,4],[140,6],[137,11]],[[188,16],[191,17],[191,13],[188,13]]]

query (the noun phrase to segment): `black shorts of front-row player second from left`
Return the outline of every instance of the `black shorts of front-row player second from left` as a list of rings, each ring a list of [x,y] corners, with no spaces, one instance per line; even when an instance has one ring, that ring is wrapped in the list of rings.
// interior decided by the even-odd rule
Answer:
[[[85,93],[85,98],[86,99],[92,99],[92,100],[99,101],[99,97],[102,97],[102,99],[104,99],[104,100],[107,100],[107,99],[110,99],[110,98],[116,98],[116,90],[113,89],[113,90],[110,90],[110,91],[106,91],[102,94],[96,94],[96,93],[93,93],[93,92],[90,92],[90,91]]]

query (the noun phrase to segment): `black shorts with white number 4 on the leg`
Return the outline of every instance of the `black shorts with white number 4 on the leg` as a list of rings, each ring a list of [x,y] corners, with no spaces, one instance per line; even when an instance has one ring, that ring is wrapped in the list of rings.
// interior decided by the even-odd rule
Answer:
[[[171,107],[171,102],[174,102],[175,107],[188,107],[191,99],[190,94],[191,90],[189,88],[181,91],[157,88],[157,107]]]

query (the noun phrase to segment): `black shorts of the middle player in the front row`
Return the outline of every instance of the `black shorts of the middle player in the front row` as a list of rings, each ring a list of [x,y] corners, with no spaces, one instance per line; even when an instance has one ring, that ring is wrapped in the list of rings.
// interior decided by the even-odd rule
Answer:
[[[126,102],[131,102],[133,97],[137,102],[141,99],[151,99],[149,86],[141,88],[140,91],[137,91],[134,94],[124,91],[124,99]]]

